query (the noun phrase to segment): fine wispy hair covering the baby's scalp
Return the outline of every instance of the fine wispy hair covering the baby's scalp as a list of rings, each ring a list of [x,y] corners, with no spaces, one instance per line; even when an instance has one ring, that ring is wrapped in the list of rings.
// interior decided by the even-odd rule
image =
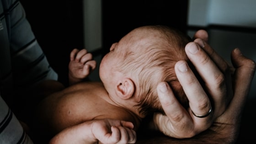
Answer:
[[[186,60],[185,46],[192,39],[182,32],[167,26],[144,26],[129,32],[125,39],[124,57],[117,70],[130,75],[135,84],[134,95],[139,96],[138,107],[143,114],[164,113],[157,96],[157,85],[166,81],[178,101],[187,108],[188,99],[174,70],[179,60]]]

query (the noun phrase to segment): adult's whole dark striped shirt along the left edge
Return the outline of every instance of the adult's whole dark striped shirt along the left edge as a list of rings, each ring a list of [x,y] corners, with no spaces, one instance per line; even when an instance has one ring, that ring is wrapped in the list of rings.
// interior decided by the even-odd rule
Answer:
[[[11,92],[57,79],[19,0],[0,0],[0,144],[31,144],[4,101]]]

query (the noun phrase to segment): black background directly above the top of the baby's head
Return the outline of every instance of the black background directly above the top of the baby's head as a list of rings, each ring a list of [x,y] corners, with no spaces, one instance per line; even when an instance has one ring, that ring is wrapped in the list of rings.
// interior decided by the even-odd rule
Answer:
[[[102,0],[103,48],[136,27],[162,24],[187,32],[188,0]]]

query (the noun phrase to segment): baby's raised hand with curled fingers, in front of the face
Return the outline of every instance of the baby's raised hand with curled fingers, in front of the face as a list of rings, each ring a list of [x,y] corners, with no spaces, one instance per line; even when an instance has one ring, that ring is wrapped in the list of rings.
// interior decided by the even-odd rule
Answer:
[[[85,79],[96,68],[96,61],[86,49],[73,49],[70,53],[69,84],[75,84]]]

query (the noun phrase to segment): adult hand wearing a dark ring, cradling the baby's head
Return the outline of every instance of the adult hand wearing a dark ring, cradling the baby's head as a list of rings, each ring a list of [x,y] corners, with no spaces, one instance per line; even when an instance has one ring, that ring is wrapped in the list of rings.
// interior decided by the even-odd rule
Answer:
[[[169,85],[165,82],[160,83],[158,94],[166,116],[155,114],[156,127],[165,135],[189,138],[211,126],[210,129],[218,134],[229,132],[226,136],[235,138],[240,114],[255,73],[255,62],[245,58],[236,48],[231,53],[233,67],[230,67],[206,43],[207,32],[198,31],[195,38],[195,43],[187,44],[186,53],[205,85],[200,85],[185,61],[177,62],[176,75],[190,101],[190,108],[184,109],[176,100]],[[208,114],[210,109],[212,111],[207,117],[195,116]],[[225,129],[223,126],[229,128]]]

